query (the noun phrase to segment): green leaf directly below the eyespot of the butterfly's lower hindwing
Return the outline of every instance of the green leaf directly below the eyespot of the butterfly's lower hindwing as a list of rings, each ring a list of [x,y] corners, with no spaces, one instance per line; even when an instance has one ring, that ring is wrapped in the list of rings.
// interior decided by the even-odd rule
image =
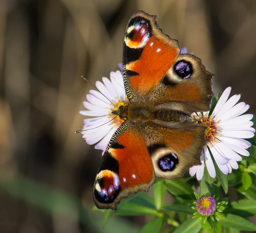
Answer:
[[[180,198],[189,201],[195,199],[194,191],[192,190],[191,186],[182,179],[165,180],[164,184],[168,192],[176,198],[179,196]]]

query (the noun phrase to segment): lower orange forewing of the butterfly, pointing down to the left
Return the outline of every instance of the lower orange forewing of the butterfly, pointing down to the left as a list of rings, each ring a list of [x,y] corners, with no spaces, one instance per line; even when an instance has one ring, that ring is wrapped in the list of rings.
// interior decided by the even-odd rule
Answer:
[[[116,210],[122,198],[148,190],[153,183],[154,167],[143,135],[125,121],[105,150],[94,183],[94,202],[100,209]]]

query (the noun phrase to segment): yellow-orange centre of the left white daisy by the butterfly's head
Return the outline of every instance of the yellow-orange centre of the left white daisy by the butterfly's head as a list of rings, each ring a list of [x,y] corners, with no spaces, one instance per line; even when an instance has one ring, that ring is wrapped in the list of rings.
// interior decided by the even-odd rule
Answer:
[[[125,99],[123,98],[117,98],[116,100],[111,101],[111,106],[108,107],[109,114],[107,115],[108,118],[114,118],[113,121],[110,122],[110,125],[114,125],[116,127],[119,127],[124,120],[120,119],[119,116],[114,115],[112,112],[116,111],[120,106],[129,104],[129,100],[127,96],[125,96]]]

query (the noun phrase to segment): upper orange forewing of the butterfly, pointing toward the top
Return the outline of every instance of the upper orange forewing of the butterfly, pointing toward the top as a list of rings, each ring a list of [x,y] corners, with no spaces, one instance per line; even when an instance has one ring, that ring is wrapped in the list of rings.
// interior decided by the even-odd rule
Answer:
[[[163,78],[180,53],[177,40],[157,28],[155,16],[136,12],[123,43],[123,74],[130,101],[143,98]]]

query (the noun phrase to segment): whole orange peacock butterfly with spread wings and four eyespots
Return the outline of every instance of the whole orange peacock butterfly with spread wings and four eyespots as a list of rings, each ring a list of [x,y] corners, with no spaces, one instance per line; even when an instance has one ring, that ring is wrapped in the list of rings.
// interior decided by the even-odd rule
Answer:
[[[180,54],[156,16],[138,11],[125,29],[123,80],[130,104],[112,113],[123,119],[104,152],[93,199],[116,210],[122,198],[148,190],[155,177],[174,179],[200,165],[205,127],[190,120],[209,110],[212,73],[194,55]]]

